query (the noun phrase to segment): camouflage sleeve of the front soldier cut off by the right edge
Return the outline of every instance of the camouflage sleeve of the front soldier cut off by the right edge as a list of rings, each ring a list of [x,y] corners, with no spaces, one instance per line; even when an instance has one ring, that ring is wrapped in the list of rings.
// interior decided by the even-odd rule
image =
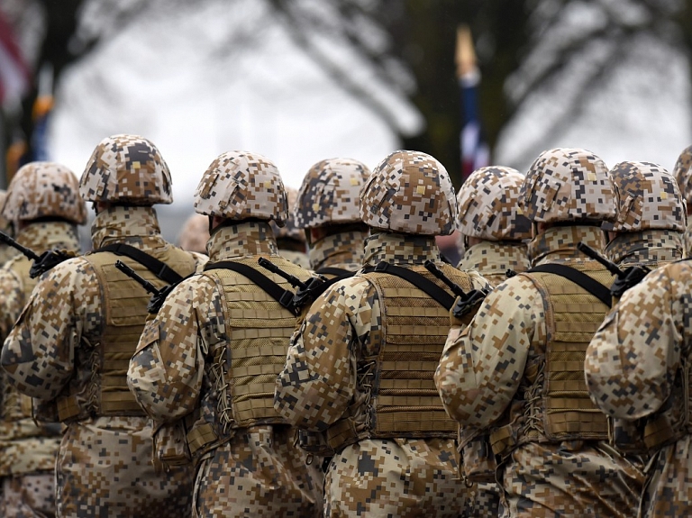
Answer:
[[[686,263],[653,271],[624,293],[589,343],[587,387],[605,413],[639,419],[668,399],[689,332],[690,274]]]

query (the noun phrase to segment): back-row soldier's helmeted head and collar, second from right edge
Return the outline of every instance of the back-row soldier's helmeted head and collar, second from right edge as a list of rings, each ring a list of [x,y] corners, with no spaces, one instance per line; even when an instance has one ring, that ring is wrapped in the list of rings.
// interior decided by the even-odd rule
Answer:
[[[620,162],[608,176],[617,211],[615,222],[601,227],[608,259],[651,269],[682,259],[687,214],[675,178],[650,162]]]

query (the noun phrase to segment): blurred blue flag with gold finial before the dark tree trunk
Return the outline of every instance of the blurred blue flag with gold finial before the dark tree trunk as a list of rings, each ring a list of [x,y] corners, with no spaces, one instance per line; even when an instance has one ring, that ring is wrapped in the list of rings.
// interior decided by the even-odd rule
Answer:
[[[483,137],[483,128],[478,112],[478,83],[480,70],[476,65],[471,32],[467,25],[457,29],[455,55],[457,78],[461,96],[461,180],[465,180],[478,168],[490,164],[490,150]]]

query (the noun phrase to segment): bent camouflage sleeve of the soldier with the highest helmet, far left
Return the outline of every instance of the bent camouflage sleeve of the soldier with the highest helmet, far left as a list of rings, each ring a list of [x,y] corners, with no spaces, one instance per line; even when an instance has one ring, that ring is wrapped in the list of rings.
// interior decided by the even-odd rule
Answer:
[[[102,324],[96,271],[69,259],[41,277],[3,346],[0,364],[26,395],[50,401],[75,369],[82,337]]]

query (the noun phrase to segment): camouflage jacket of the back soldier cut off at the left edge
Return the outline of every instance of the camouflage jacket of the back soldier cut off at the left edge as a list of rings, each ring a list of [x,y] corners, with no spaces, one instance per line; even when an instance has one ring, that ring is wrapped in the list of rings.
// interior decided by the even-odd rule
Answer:
[[[70,223],[32,223],[17,235],[17,241],[38,254],[45,250],[79,251],[77,229]],[[14,249],[12,249],[14,250]],[[16,256],[0,269],[0,294],[4,312],[0,338],[5,341],[38,279],[29,277],[32,259]],[[0,476],[10,473],[51,471],[61,437],[59,425],[37,425],[32,419],[32,399],[2,379],[2,423],[0,423]]]

